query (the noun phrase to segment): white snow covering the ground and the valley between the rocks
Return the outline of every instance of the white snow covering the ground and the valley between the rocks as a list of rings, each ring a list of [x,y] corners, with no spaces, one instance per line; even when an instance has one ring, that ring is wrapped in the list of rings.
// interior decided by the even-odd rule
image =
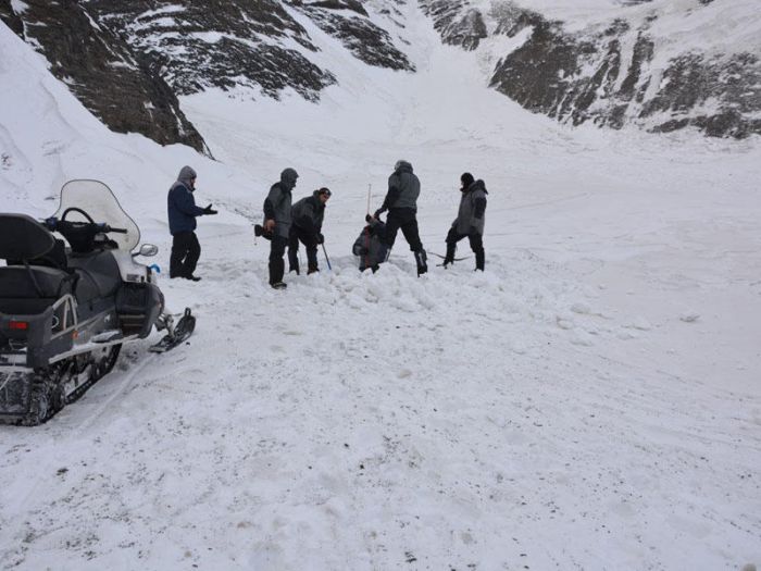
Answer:
[[[198,315],[186,346],[149,353],[155,334],[47,424],[0,426],[3,569],[761,561],[758,137],[557,125],[402,9],[416,74],[310,26],[339,80],[319,104],[184,98],[220,162],[108,132],[0,27],[3,211],[43,216],[66,179],[102,179],[164,272],[182,165],[221,211],[199,220],[203,280],[161,282]],[[460,174],[485,179],[485,273],[432,256],[417,278],[401,236],[357,271],[367,187],[377,208],[399,158],[432,252]],[[251,225],[286,166],[295,198],[334,191],[333,271],[321,251],[275,291]]]

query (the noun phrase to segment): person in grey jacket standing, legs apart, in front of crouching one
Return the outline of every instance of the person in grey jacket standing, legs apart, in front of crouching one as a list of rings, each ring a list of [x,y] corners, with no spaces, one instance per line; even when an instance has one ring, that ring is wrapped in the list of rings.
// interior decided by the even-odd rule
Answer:
[[[412,172],[412,165],[404,160],[399,160],[394,165],[394,173],[388,177],[388,193],[380,208],[375,211],[375,218],[377,219],[388,210],[384,244],[388,246],[390,251],[397,239],[397,232],[401,229],[404,239],[410,245],[410,250],[415,255],[417,275],[421,275],[428,271],[428,265],[417,229],[419,196],[420,181]]]

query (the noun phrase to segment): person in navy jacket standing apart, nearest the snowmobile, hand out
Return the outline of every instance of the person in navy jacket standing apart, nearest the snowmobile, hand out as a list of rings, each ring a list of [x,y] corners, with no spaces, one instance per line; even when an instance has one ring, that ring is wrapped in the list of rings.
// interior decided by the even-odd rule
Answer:
[[[194,275],[196,264],[201,256],[201,245],[196,236],[196,219],[202,215],[216,214],[209,204],[207,208],[196,206],[196,171],[183,166],[177,181],[170,188],[166,197],[166,211],[172,233],[172,256],[170,257],[170,277],[185,277],[198,282]]]

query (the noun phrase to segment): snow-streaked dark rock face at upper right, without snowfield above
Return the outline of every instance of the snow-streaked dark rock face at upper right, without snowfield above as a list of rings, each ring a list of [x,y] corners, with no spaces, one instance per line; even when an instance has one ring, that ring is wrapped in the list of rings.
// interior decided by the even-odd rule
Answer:
[[[467,0],[420,2],[445,42],[473,49],[472,41],[450,32],[473,11]],[[529,32],[520,48],[499,61],[490,85],[534,112],[574,125],[592,121],[621,128],[634,123],[653,132],[694,126],[709,136],[736,138],[761,134],[754,119],[761,111],[761,64],[752,53],[710,59],[685,53],[659,70],[649,32],[654,15],[636,28],[614,20],[584,34],[566,33],[562,22],[512,2],[492,5],[487,17],[496,35]]]

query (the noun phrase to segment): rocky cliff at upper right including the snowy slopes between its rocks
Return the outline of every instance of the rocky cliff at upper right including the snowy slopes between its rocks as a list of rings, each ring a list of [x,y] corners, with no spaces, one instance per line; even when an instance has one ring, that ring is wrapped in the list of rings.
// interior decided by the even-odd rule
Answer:
[[[516,2],[492,2],[486,12],[469,0],[420,2],[447,44],[476,50],[487,38],[521,40],[517,48],[492,53],[490,85],[531,111],[574,125],[636,124],[652,132],[694,126],[736,138],[761,134],[758,41],[681,37],[721,33],[722,18],[738,17],[728,0],[683,1],[670,9],[663,2],[623,1],[615,17],[575,29]]]

